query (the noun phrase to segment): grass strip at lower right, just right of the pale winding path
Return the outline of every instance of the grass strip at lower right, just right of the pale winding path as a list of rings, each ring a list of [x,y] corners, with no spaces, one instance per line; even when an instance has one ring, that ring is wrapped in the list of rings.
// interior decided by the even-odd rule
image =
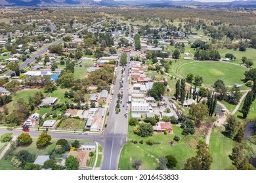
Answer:
[[[211,169],[213,170],[224,170],[232,165],[228,155],[232,152],[234,142],[232,139],[225,137],[221,133],[222,131],[224,131],[224,128],[214,127],[211,132],[209,152],[213,156],[213,163],[211,163]]]

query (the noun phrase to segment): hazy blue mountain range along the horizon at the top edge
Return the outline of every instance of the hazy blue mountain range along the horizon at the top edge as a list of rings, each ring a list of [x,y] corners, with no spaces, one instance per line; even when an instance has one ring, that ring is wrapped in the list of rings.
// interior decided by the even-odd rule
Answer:
[[[39,6],[39,5],[95,5],[95,6],[131,6],[131,7],[186,7],[195,5],[198,8],[256,8],[256,1],[232,1],[232,2],[200,2],[198,1],[171,1],[171,0],[0,0],[2,6]],[[212,0],[213,1],[213,0]]]

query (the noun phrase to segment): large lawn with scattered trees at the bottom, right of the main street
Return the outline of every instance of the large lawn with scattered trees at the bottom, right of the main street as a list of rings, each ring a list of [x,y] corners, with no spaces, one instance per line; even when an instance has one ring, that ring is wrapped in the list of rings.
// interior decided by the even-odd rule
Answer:
[[[153,135],[152,137],[139,137],[133,133],[133,126],[129,125],[128,138],[129,142],[125,144],[123,150],[121,151],[121,156],[119,160],[119,169],[130,170],[133,169],[131,167],[133,161],[135,159],[142,159],[142,167],[141,169],[145,170],[154,170],[158,167],[158,158],[161,156],[167,156],[172,154],[177,159],[177,167],[174,169],[183,169],[184,163],[186,159],[191,158],[196,155],[196,150],[191,148],[188,143],[189,138],[184,138],[181,135],[182,129],[173,125],[173,133],[171,135]],[[171,146],[169,142],[173,141],[174,135],[179,135],[181,140]],[[160,144],[154,144],[152,146],[148,146],[145,141],[148,138],[154,139],[154,142],[160,142]],[[192,138],[193,139],[193,138]],[[133,144],[130,142],[131,140],[137,140],[137,144]],[[144,144],[140,144],[139,141],[143,140]]]

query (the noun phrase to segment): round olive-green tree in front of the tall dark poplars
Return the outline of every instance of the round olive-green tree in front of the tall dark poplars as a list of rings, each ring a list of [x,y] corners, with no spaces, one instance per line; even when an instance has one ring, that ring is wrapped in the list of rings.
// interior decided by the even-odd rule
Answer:
[[[189,116],[196,121],[197,124],[202,122],[203,118],[209,114],[207,105],[198,103],[190,105]]]

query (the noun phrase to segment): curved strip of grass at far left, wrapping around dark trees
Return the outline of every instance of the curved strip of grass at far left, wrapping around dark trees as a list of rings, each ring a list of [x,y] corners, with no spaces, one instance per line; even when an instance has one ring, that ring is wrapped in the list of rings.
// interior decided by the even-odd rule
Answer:
[[[24,90],[17,92],[15,95],[12,94],[12,101],[11,103],[7,104],[7,108],[9,109],[9,113],[11,114],[12,110],[14,110],[14,104],[18,101],[18,99],[24,99],[24,101],[28,102],[28,98],[32,97],[36,92],[42,92],[43,89],[36,89],[36,90]],[[45,93],[43,93],[45,95]]]

